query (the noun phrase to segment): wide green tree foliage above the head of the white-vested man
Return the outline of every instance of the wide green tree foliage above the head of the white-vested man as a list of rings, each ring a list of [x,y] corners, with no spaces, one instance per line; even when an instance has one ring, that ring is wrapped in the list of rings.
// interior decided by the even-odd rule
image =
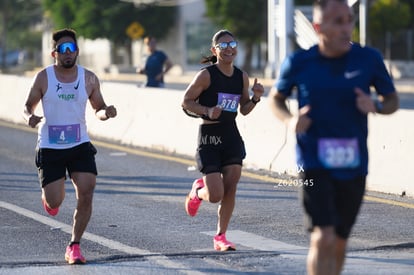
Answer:
[[[174,26],[175,7],[156,5],[135,6],[119,0],[42,0],[55,28],[70,27],[89,39],[107,38],[130,50],[131,38],[126,29],[133,22],[143,26],[144,35],[162,39]]]

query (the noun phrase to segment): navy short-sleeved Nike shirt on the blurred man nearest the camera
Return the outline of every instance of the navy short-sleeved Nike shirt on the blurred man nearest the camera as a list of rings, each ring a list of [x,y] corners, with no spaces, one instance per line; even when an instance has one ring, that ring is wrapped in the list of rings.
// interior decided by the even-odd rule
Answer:
[[[312,125],[297,135],[297,161],[304,169],[329,169],[338,179],[368,173],[367,115],[356,107],[354,89],[370,94],[395,92],[381,54],[352,44],[338,58],[326,58],[315,45],[286,58],[275,84],[279,93],[291,96],[297,88],[299,108],[310,105]]]

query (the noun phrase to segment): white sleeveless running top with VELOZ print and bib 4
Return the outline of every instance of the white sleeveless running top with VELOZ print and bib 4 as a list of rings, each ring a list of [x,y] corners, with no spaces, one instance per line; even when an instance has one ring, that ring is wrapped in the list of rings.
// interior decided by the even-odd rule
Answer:
[[[85,69],[77,65],[72,83],[57,80],[54,66],[46,67],[47,90],[42,98],[43,119],[38,131],[38,147],[67,149],[90,141],[85,120],[88,94]]]

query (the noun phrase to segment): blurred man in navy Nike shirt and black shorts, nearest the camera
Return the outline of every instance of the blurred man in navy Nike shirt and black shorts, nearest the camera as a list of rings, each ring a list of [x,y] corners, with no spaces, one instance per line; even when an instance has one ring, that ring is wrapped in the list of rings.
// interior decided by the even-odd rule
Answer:
[[[355,18],[347,0],[316,1],[313,21],[318,44],[285,59],[270,98],[274,114],[296,132],[311,232],[308,274],[340,274],[365,192],[367,115],[391,114],[399,99],[380,53],[351,42]],[[294,88],[296,116],[286,105]]]

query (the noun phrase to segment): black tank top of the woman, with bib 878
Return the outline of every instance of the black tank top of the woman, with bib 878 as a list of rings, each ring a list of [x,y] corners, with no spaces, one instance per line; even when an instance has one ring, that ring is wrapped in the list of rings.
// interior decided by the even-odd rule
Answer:
[[[243,72],[235,66],[232,76],[223,74],[216,65],[206,69],[210,73],[210,86],[201,93],[198,102],[207,107],[221,105],[223,111],[217,120],[234,121],[243,93]]]

